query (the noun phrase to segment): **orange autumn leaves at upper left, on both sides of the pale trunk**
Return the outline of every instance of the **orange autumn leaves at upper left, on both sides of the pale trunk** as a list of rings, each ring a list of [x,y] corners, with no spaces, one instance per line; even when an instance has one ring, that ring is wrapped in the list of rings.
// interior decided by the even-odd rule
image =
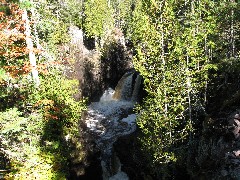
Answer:
[[[33,68],[39,73],[47,73],[47,65],[30,65],[28,60],[29,49],[26,46],[25,22],[22,21],[23,11],[18,5],[1,1],[0,7],[0,60],[1,68],[11,77],[27,75]],[[30,37],[31,38],[31,37]],[[41,50],[34,48],[35,54]]]

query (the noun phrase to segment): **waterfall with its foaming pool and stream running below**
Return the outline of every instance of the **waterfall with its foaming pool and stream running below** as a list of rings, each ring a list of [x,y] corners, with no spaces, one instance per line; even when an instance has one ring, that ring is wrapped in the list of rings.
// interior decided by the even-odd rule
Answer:
[[[113,143],[120,137],[136,130],[136,115],[132,113],[140,89],[141,77],[133,79],[133,72],[126,73],[115,91],[107,89],[99,102],[88,107],[85,123],[96,136],[101,150],[101,165],[104,180],[128,180],[121,171],[121,163],[113,152]]]

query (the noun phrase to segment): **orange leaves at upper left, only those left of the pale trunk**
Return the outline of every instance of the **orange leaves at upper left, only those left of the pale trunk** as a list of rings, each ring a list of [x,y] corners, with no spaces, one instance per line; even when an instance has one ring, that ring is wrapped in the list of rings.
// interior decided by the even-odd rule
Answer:
[[[18,5],[1,1],[2,5],[9,8],[10,14],[0,12],[0,57],[8,66],[5,69],[9,70],[13,76],[16,76],[20,67],[16,67],[19,58],[25,58],[26,36],[24,35],[24,22],[21,21],[21,10]],[[14,65],[13,65],[14,64]]]

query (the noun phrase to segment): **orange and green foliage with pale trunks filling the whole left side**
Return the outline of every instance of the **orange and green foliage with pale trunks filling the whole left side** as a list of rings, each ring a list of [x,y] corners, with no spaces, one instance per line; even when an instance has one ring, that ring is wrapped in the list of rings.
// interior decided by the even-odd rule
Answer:
[[[73,98],[78,81],[64,76],[69,59],[57,49],[68,39],[42,24],[52,20],[42,1],[14,2],[0,0],[0,179],[66,179],[72,159],[85,161],[85,101]]]

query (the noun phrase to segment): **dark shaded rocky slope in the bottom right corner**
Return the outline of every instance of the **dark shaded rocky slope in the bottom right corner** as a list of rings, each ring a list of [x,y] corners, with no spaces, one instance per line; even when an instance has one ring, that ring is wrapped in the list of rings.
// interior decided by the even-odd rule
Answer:
[[[188,151],[187,169],[193,179],[240,179],[239,114],[204,127]],[[220,125],[222,121],[222,125]]]

